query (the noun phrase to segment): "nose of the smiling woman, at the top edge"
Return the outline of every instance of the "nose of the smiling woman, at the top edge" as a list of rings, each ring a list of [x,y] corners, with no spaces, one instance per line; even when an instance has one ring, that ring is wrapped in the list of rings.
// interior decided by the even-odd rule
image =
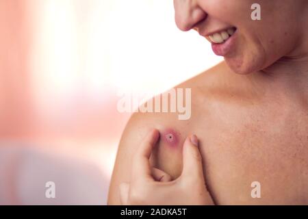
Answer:
[[[175,23],[182,31],[188,31],[207,17],[197,3],[197,0],[174,0]]]

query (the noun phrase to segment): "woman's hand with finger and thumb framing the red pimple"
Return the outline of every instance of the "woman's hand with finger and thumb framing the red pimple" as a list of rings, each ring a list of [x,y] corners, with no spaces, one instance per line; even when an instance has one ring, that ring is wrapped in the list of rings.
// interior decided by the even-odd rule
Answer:
[[[150,165],[149,158],[158,138],[159,132],[151,131],[136,151],[131,182],[120,184],[122,205],[214,205],[205,185],[196,136],[186,138],[183,170],[173,181],[166,172]]]

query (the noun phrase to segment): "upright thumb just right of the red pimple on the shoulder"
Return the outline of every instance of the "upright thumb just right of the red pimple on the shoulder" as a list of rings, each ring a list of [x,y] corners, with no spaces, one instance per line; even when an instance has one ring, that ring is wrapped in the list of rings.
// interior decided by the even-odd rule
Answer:
[[[181,176],[192,181],[204,181],[201,153],[198,149],[198,138],[192,135],[186,138],[183,145],[183,170]]]

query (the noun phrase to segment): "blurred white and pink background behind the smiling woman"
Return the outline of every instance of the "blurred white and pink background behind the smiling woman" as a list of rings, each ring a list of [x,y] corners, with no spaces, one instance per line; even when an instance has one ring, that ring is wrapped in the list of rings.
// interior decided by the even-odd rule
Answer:
[[[32,174],[18,178],[28,182],[26,191],[16,194],[14,185],[11,196],[40,203],[29,201],[40,170],[65,169],[65,162],[30,156],[29,149],[97,166],[103,182],[92,190],[105,204],[130,116],[116,109],[118,91],[163,92],[221,60],[196,32],[177,29],[172,0],[0,0],[0,162],[12,149],[37,159],[19,171]],[[12,185],[4,183],[8,174],[0,177],[0,186]],[[79,193],[90,185],[77,184]]]

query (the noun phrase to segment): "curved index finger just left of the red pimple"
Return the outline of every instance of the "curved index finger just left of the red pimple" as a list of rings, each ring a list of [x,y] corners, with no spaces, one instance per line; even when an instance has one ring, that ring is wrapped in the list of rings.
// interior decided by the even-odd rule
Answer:
[[[138,147],[133,160],[133,169],[131,173],[132,180],[140,177],[153,177],[151,176],[151,165],[149,159],[153,150],[153,146],[156,144],[159,138],[159,132],[157,129],[153,129],[146,135]]]

